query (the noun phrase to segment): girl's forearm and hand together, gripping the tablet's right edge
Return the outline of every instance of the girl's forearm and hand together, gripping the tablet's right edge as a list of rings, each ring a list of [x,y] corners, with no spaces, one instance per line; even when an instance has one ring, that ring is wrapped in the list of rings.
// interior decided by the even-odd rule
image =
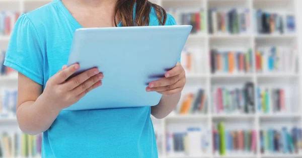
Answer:
[[[149,83],[147,92],[156,91],[163,94],[160,103],[151,108],[151,114],[158,119],[168,116],[178,104],[185,84],[186,73],[180,63],[168,71],[165,78]]]

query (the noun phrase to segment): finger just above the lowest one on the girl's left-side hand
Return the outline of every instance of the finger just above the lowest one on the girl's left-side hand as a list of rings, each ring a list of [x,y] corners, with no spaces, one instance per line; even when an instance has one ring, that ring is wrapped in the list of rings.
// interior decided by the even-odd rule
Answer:
[[[74,88],[78,87],[79,85],[83,84],[85,81],[87,81],[92,76],[95,76],[97,74],[99,75],[99,79],[103,79],[103,74],[100,73],[98,68],[92,68],[87,71],[84,71],[81,74],[78,74],[77,76],[72,77],[66,84],[64,84],[65,88],[70,91]]]

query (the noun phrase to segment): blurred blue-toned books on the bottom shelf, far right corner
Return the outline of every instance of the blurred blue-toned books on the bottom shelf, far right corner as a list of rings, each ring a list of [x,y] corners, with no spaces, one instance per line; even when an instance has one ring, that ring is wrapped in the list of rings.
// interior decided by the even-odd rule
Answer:
[[[297,127],[287,129],[282,127],[281,130],[273,128],[260,130],[261,153],[299,153],[302,149],[302,129]]]

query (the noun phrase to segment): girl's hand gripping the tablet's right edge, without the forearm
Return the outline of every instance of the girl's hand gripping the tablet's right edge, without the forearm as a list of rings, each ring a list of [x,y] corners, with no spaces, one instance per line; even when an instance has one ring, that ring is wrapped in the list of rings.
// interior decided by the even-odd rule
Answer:
[[[165,77],[158,81],[149,83],[147,92],[158,92],[163,95],[174,95],[180,93],[186,84],[186,73],[182,65],[177,65],[165,73]]]

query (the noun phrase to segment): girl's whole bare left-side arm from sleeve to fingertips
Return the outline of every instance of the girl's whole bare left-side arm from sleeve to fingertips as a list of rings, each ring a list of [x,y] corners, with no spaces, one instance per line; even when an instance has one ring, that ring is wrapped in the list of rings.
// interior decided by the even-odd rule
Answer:
[[[19,73],[17,119],[20,129],[28,134],[47,130],[60,111],[78,102],[91,90],[101,86],[103,74],[97,68],[66,79],[80,68],[74,64],[60,70],[42,86]]]

